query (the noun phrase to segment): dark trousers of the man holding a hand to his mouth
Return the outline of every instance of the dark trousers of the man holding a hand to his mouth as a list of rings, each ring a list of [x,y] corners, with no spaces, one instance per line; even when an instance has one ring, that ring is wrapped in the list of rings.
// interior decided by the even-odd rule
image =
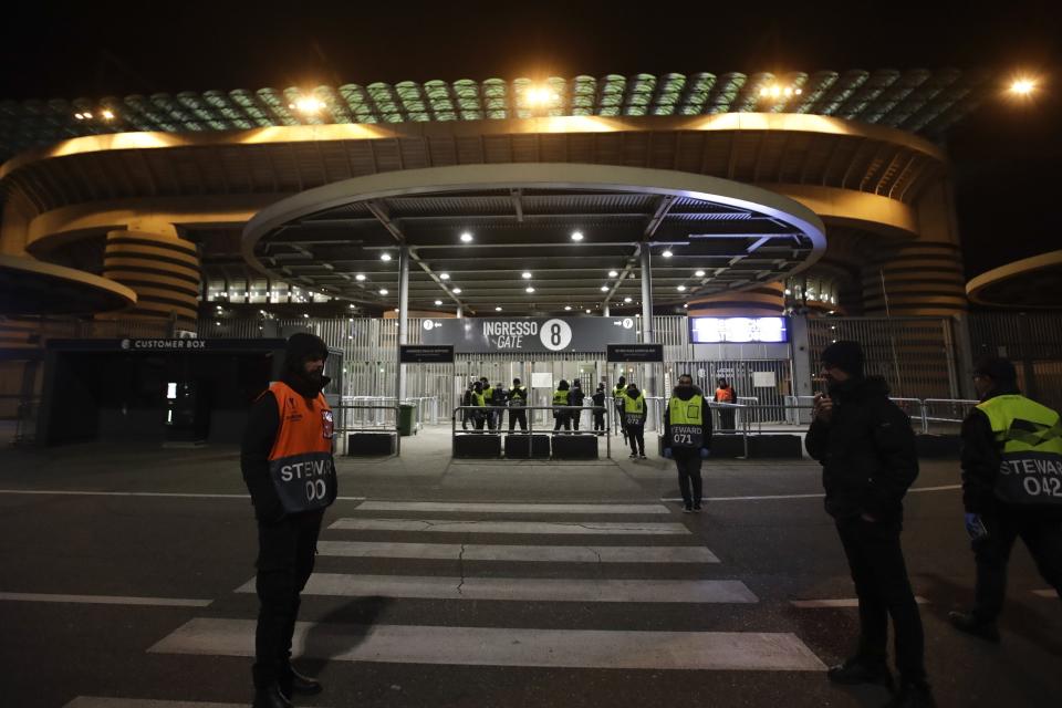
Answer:
[[[899,545],[902,521],[874,523],[853,517],[836,524],[860,598],[858,655],[868,663],[886,660],[892,616],[896,668],[905,681],[924,681],[925,636]]]

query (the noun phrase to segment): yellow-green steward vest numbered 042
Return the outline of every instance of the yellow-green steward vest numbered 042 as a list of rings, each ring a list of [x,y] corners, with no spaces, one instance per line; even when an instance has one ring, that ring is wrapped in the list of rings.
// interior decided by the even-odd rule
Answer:
[[[978,404],[988,416],[1002,464],[993,491],[1008,503],[1062,508],[1062,424],[1059,414],[1020,394]]]

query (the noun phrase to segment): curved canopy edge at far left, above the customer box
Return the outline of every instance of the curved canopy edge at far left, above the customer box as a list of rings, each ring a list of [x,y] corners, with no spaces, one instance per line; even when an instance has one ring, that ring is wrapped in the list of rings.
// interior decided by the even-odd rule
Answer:
[[[83,314],[136,304],[114,281],[32,258],[0,256],[0,314]]]

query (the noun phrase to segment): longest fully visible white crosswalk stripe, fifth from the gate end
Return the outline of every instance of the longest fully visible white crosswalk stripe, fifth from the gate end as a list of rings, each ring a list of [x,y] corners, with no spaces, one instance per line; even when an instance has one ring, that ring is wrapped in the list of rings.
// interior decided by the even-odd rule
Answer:
[[[251,620],[192,620],[149,652],[252,656]],[[513,629],[419,625],[295,626],[293,652],[342,662],[821,671],[789,633]]]

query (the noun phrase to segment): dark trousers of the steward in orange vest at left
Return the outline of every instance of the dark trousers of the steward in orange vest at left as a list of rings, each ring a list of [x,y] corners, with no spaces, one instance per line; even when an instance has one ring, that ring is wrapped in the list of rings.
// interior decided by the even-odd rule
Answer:
[[[289,514],[258,525],[258,628],[254,632],[257,688],[283,684],[289,676],[291,636],[299,616],[299,593],[313,573],[323,511]]]

